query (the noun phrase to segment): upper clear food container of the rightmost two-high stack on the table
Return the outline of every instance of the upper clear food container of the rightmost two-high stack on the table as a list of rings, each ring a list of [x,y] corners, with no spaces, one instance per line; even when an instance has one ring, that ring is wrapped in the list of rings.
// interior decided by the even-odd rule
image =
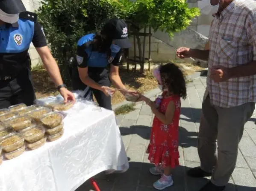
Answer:
[[[51,112],[41,117],[41,123],[49,128],[54,128],[62,123],[63,115],[57,112]]]

